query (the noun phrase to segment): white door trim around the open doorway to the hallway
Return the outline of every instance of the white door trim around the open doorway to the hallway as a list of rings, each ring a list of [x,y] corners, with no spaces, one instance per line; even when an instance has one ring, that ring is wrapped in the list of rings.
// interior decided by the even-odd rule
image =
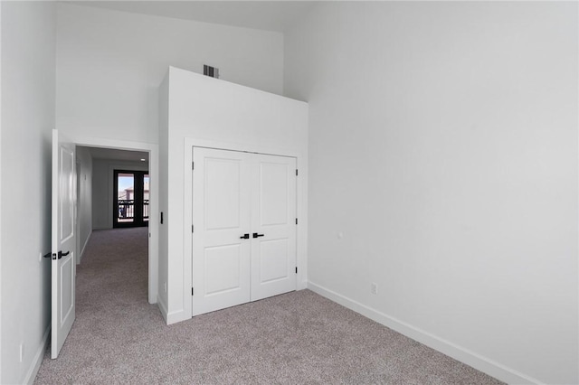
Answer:
[[[149,219],[148,219],[148,303],[157,304],[158,297],[158,181],[159,149],[152,143],[132,142],[98,137],[72,136],[76,146],[112,148],[148,153]]]

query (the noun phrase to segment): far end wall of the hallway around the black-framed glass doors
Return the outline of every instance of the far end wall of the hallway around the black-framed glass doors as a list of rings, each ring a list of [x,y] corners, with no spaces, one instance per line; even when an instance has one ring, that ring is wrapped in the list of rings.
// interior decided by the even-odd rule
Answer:
[[[112,229],[114,170],[148,171],[146,162],[92,161],[92,229]]]

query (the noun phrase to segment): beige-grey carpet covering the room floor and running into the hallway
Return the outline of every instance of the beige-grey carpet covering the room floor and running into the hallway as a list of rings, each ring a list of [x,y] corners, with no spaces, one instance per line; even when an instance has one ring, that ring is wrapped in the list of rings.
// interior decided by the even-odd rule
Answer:
[[[167,326],[146,228],[94,231],[85,253],[76,321],[35,383],[501,383],[308,290]]]

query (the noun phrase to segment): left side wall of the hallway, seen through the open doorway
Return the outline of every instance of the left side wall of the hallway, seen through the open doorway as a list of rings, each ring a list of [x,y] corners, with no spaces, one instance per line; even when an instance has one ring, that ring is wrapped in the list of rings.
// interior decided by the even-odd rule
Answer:
[[[79,246],[77,263],[81,263],[84,249],[92,233],[92,157],[87,147],[76,147],[77,159],[77,229]]]

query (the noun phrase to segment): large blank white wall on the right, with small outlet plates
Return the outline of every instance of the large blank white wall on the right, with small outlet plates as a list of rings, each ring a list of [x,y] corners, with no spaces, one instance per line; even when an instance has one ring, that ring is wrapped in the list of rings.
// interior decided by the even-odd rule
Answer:
[[[332,3],[287,33],[311,287],[502,380],[577,383],[577,36],[548,2]]]

